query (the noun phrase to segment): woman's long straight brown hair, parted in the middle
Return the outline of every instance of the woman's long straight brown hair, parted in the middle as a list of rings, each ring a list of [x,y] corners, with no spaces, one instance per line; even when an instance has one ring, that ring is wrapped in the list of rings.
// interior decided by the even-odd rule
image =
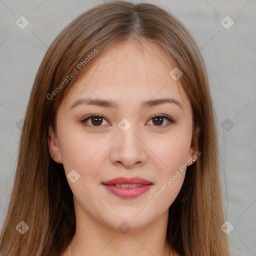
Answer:
[[[182,71],[178,81],[190,99],[192,139],[201,153],[187,167],[181,190],[169,207],[168,243],[180,255],[230,255],[227,236],[220,228],[224,217],[215,115],[200,51],[172,14],[153,4],[125,1],[100,4],[78,16],[57,36],[42,60],[24,118],[13,188],[0,236],[1,255],[60,255],[72,240],[72,192],[63,165],[49,155],[48,125],[55,127],[60,101],[93,61],[109,47],[130,39],[158,43],[171,63]],[[88,55],[93,55],[89,61],[85,60]],[[77,73],[69,79],[74,69]],[[200,127],[198,139],[196,125]],[[23,234],[16,230],[20,221],[29,227]]]

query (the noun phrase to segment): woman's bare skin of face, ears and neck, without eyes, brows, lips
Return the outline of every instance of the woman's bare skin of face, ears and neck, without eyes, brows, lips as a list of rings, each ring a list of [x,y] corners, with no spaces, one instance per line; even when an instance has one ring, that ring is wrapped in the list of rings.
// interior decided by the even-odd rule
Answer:
[[[49,125],[49,152],[63,164],[66,175],[72,169],[80,174],[74,183],[67,178],[76,233],[64,256],[169,255],[168,208],[185,171],[154,202],[148,198],[197,151],[191,143],[191,106],[178,81],[169,75],[173,67],[154,42],[145,41],[141,50],[128,41],[101,55],[59,105],[56,134]],[[119,107],[79,104],[71,108],[85,97],[112,100]],[[174,103],[140,106],[142,101],[163,97],[175,98],[183,109]],[[81,123],[91,113],[106,119],[99,126],[95,126],[95,118]],[[175,122],[163,118],[157,125],[154,114],[167,115]],[[118,127],[123,118],[131,123],[127,131]],[[139,176],[153,185],[135,198],[120,198],[101,184],[118,176]],[[118,229],[123,221],[130,226],[126,233]],[[178,254],[173,250],[171,255]]]

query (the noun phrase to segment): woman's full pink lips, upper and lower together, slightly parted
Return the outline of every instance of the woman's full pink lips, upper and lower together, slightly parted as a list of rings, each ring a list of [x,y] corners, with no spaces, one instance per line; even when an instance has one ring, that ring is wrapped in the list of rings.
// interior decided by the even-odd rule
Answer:
[[[134,198],[146,192],[153,185],[151,181],[140,177],[117,177],[108,181],[102,182],[104,187],[111,193],[122,198]],[[138,187],[117,187],[113,184],[141,184]]]

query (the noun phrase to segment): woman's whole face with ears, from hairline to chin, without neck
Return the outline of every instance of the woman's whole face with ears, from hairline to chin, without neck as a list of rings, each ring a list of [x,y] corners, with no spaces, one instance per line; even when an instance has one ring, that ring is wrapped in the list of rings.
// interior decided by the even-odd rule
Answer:
[[[62,100],[48,144],[76,216],[117,229],[166,215],[184,180],[180,166],[196,152],[191,106],[173,68],[157,44],[141,51],[126,42],[101,55]]]

